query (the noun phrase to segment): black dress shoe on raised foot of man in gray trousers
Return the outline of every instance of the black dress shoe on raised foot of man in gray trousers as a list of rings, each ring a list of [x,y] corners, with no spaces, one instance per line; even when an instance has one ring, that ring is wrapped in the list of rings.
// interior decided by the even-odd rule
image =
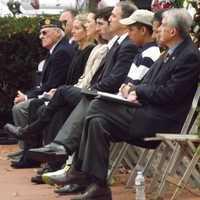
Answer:
[[[65,147],[56,143],[50,143],[42,148],[29,149],[28,155],[40,162],[65,161],[68,158]]]

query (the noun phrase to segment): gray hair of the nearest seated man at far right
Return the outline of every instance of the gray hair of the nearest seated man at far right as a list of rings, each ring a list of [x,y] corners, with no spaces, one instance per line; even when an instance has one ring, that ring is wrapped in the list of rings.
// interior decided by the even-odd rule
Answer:
[[[191,29],[193,19],[185,8],[172,8],[163,13],[167,18],[167,23],[176,28],[181,37],[185,38]]]

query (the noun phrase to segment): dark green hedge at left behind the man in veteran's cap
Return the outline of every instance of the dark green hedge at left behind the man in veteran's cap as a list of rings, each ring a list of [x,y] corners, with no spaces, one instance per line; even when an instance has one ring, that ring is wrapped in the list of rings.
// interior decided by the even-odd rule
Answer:
[[[40,18],[0,18],[0,126],[7,120],[18,89],[35,84],[35,71],[46,54],[38,38]]]

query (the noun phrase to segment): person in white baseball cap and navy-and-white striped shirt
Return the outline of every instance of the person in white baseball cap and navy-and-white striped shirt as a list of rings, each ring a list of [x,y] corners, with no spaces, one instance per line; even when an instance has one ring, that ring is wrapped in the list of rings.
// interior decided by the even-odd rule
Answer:
[[[152,38],[153,16],[153,12],[139,9],[120,20],[121,24],[128,26],[129,38],[141,49],[133,60],[125,84],[121,86],[122,91],[130,84],[138,84],[160,56],[160,50]]]

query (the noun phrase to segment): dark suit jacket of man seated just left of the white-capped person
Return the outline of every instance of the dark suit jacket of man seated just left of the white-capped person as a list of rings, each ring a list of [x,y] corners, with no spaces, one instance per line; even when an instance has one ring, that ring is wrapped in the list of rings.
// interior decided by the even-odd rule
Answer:
[[[135,55],[137,47],[126,37],[121,44],[116,44],[109,50],[100,64],[99,71],[91,81],[93,89],[115,93],[124,82]]]

